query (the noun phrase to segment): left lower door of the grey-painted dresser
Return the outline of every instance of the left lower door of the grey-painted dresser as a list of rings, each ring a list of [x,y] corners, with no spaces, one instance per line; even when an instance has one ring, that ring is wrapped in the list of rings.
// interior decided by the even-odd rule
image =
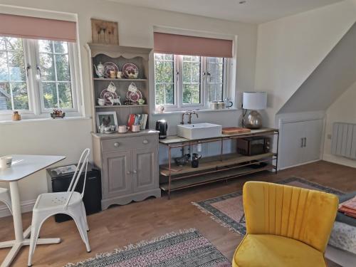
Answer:
[[[131,152],[103,154],[103,197],[120,197],[131,193]]]

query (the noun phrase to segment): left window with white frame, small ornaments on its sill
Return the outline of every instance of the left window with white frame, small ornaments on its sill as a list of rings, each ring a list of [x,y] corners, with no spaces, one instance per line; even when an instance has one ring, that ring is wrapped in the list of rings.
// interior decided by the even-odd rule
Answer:
[[[24,117],[47,117],[53,108],[79,115],[74,50],[65,41],[0,37],[0,120],[14,110]]]

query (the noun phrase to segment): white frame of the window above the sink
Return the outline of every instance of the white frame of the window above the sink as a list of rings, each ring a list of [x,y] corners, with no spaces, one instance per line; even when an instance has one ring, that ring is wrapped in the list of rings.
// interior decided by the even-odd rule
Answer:
[[[174,58],[174,103],[172,105],[163,105],[164,110],[166,111],[182,111],[189,109],[199,109],[199,110],[207,110],[209,109],[208,102],[208,81],[206,78],[206,73],[208,71],[208,61],[207,57],[201,57],[201,65],[200,65],[200,100],[201,103],[197,104],[184,104],[183,103],[183,85],[182,85],[182,55],[173,55]],[[222,94],[223,99],[228,97],[228,73],[230,72],[231,63],[229,63],[229,58],[224,58],[224,72],[223,72],[223,88]],[[155,55],[153,55],[153,69],[155,69]],[[154,80],[154,86],[156,86]],[[156,105],[156,90],[154,90],[154,97],[152,100],[153,106],[161,106]]]

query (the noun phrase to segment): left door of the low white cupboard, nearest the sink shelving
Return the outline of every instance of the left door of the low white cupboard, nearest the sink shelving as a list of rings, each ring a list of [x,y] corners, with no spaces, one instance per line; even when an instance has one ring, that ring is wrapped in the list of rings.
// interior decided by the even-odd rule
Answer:
[[[286,168],[303,161],[304,122],[286,122],[281,125],[279,167]]]

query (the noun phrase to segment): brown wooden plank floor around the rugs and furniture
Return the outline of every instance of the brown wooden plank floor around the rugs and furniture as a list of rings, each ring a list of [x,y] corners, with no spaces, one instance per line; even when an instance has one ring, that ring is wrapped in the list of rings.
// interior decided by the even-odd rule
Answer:
[[[37,246],[33,266],[63,266],[95,256],[96,253],[112,251],[127,244],[135,244],[144,239],[152,239],[178,229],[198,229],[227,258],[233,256],[236,246],[242,239],[220,226],[203,214],[192,201],[201,201],[221,194],[240,190],[247,180],[255,179],[276,182],[292,175],[334,187],[345,192],[356,190],[355,169],[328,162],[315,162],[294,167],[273,174],[263,172],[240,177],[230,182],[219,182],[208,186],[174,192],[172,199],[147,199],[126,206],[115,206],[99,214],[88,216],[91,253],[85,252],[73,221],[57,224],[52,218],[43,224],[41,237],[61,237],[61,244]],[[23,214],[23,226],[31,221],[31,213]],[[0,219],[0,241],[14,239],[11,217]],[[9,249],[0,250],[0,261]],[[23,248],[13,266],[27,266],[28,247]],[[337,266],[329,263],[329,266]]]

